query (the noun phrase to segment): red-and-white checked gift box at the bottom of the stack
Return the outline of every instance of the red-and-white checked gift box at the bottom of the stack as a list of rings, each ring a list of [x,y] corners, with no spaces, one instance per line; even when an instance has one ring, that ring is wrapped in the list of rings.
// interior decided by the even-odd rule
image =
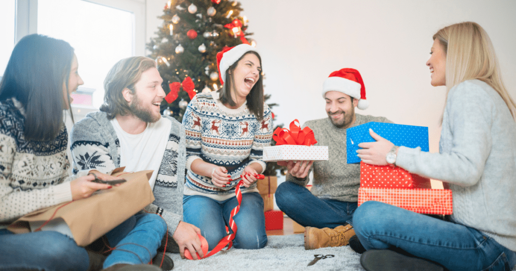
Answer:
[[[358,205],[375,200],[420,214],[450,215],[453,201],[449,189],[366,188],[358,189]]]

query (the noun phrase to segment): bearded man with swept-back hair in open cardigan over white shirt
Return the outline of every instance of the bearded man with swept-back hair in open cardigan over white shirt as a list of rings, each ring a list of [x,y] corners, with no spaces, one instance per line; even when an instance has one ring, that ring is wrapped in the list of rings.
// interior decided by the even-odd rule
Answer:
[[[96,169],[107,174],[123,166],[127,172],[154,170],[149,184],[155,201],[144,211],[159,214],[167,222],[167,251],[183,257],[188,249],[197,259],[196,252],[203,257],[200,230],[182,221],[185,129],[174,118],[160,114],[165,92],[156,67],[150,58],[130,57],[111,68],[100,111],[73,126],[73,170]]]

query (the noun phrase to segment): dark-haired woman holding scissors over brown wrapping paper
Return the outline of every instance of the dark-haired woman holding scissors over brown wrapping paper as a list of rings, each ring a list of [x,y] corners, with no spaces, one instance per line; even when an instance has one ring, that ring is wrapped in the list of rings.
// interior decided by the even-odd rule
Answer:
[[[13,234],[6,229],[30,212],[87,198],[97,190],[111,188],[108,184],[92,182],[95,176],[102,180],[116,179],[98,171],[68,176],[68,133],[63,122],[63,110],[71,107],[70,93],[84,84],[77,69],[77,57],[68,42],[33,34],[22,38],[14,47],[0,82],[2,270],[102,268],[104,257],[77,246],[66,234],[53,230]],[[154,250],[155,253],[166,225],[157,215],[142,216],[148,222],[144,226],[152,229],[144,230],[155,234],[154,240],[139,233],[130,236],[138,227],[138,224],[134,226],[136,219],[133,216],[106,236],[109,242],[117,240],[117,243],[110,243],[113,246],[134,243],[138,248],[128,245],[124,246],[126,251],[115,250],[106,259],[106,267],[116,269],[122,267],[118,264],[135,263],[133,258],[143,256],[146,259],[144,257],[149,257],[149,251]],[[138,221],[141,220],[144,219]],[[149,244],[152,241],[155,244]],[[140,266],[140,269],[126,270],[160,270],[157,266]]]

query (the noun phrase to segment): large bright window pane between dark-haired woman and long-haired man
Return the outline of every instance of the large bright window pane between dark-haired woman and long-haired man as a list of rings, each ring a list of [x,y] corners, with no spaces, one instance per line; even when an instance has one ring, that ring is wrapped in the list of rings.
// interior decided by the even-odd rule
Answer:
[[[75,49],[84,81],[74,93],[75,106],[100,107],[107,72],[135,54],[134,21],[132,12],[82,0],[38,0],[38,33]]]

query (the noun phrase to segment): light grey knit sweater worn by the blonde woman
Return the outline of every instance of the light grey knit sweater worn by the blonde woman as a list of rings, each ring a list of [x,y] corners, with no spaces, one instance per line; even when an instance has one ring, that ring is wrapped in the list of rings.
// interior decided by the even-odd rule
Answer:
[[[450,89],[439,152],[400,147],[396,165],[448,182],[452,219],[516,251],[516,122],[488,84]]]

